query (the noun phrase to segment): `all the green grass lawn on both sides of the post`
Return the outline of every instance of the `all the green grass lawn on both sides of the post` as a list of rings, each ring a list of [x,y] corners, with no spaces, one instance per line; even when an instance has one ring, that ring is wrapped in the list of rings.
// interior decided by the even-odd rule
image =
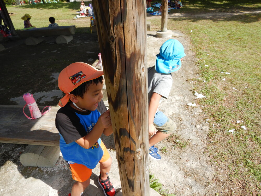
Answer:
[[[170,13],[187,15],[169,18],[168,29],[189,36],[198,57],[197,74],[201,74],[201,79],[191,79],[194,84],[191,91],[207,97],[198,100],[210,125],[206,153],[218,168],[216,176],[221,171],[219,168],[229,168],[227,181],[217,180],[216,186],[238,183],[247,195],[254,195],[253,190],[261,195],[261,14],[253,13],[261,10],[261,2],[187,0],[182,3],[184,7]],[[28,13],[36,27],[47,27],[48,18],[53,16],[60,26],[76,25],[77,33],[88,33],[89,18],[72,20],[79,7],[80,2],[72,2],[8,6],[7,9],[16,13],[11,19],[18,30],[23,28],[21,16]],[[250,13],[219,18],[194,16],[241,11]],[[161,29],[161,17],[147,20],[151,21],[152,31]],[[239,195],[237,190],[227,193]]]

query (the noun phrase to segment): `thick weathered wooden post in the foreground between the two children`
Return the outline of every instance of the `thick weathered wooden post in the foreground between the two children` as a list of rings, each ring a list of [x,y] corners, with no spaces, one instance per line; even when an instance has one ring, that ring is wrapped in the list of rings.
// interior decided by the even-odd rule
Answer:
[[[122,193],[149,195],[146,1],[92,2]]]

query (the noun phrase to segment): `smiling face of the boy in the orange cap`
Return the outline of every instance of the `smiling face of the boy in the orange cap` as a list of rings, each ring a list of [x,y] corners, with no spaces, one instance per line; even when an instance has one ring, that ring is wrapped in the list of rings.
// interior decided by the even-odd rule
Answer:
[[[77,97],[78,102],[76,105],[82,109],[87,109],[89,111],[96,110],[98,103],[102,100],[102,87],[103,83],[92,83],[88,90],[85,92],[84,97]]]

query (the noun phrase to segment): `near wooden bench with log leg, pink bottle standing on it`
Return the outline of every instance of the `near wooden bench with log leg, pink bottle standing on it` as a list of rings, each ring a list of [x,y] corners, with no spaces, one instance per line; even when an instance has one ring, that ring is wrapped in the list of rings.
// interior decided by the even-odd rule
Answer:
[[[55,127],[59,108],[52,107],[40,118],[29,120],[23,106],[0,105],[0,142],[28,144],[20,156],[23,165],[53,167],[60,156],[60,135]]]

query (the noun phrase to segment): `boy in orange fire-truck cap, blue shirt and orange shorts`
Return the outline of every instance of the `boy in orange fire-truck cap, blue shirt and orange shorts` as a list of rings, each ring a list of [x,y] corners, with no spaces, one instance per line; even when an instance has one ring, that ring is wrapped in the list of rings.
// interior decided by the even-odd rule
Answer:
[[[62,108],[56,114],[55,123],[63,158],[77,181],[72,187],[72,196],[84,192],[98,162],[98,183],[104,194],[116,194],[108,176],[112,159],[100,139],[102,133],[112,134],[110,112],[102,101],[102,75],[102,70],[76,62],[64,68],[58,77],[58,86],[65,96],[59,101]]]

